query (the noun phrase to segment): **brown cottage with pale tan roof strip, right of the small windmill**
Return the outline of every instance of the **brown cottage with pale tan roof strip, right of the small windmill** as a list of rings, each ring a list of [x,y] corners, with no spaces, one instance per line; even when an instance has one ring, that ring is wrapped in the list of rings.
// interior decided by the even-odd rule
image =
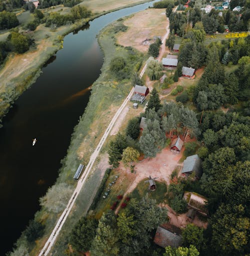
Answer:
[[[195,193],[195,192],[185,192],[183,195],[183,199],[187,202],[187,205],[198,211],[203,216],[207,216],[207,198]]]

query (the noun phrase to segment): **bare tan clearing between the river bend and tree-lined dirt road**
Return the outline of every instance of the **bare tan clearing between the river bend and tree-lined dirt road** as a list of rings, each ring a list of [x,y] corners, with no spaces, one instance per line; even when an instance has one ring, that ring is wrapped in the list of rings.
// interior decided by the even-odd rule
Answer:
[[[128,27],[126,32],[119,33],[118,44],[131,46],[141,52],[147,52],[147,45],[142,45],[145,39],[152,39],[153,36],[161,36],[166,33],[168,21],[165,16],[165,9],[147,9],[134,14],[123,23]],[[153,43],[153,41],[152,41]]]

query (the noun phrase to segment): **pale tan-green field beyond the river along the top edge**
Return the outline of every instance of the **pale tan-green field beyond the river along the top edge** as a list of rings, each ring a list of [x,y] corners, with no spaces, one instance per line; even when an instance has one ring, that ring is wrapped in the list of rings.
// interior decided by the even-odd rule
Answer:
[[[142,4],[145,0],[83,0],[82,5],[89,8],[94,13],[107,12],[114,9],[120,9],[133,4]]]

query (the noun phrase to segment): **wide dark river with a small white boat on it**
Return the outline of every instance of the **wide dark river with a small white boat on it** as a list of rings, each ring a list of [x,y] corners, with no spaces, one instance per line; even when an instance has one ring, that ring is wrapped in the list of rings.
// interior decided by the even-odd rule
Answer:
[[[38,198],[57,177],[73,127],[88,103],[103,54],[96,35],[107,24],[154,2],[101,16],[64,38],[42,74],[3,119],[0,129],[0,255],[39,209]],[[32,147],[32,139],[37,142]]]

